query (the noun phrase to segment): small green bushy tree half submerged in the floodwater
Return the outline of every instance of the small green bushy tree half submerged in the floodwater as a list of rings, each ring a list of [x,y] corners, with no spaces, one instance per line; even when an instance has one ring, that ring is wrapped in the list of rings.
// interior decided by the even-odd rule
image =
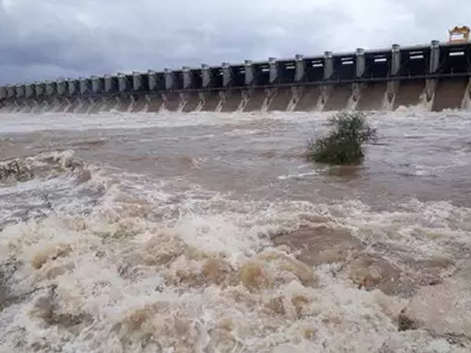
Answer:
[[[359,164],[365,153],[363,145],[377,139],[376,129],[366,123],[359,111],[340,112],[331,116],[333,129],[326,137],[308,141],[308,155],[316,162]]]

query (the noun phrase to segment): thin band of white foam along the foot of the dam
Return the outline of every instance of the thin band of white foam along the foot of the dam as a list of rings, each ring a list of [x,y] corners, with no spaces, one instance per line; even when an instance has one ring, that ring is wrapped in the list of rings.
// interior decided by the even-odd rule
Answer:
[[[420,120],[437,120],[444,113],[431,112],[418,105],[416,107],[398,107],[396,111],[385,111],[370,114],[373,120],[405,121],[411,117]],[[446,113],[445,113],[446,115]],[[468,119],[468,112],[456,111],[453,115],[462,120]],[[0,133],[35,132],[42,130],[87,130],[87,129],[131,129],[143,127],[185,127],[196,125],[236,125],[240,123],[256,123],[263,120],[283,120],[287,123],[325,122],[332,112],[284,112],[272,111],[259,114],[238,112],[234,113],[123,113],[119,111],[103,112],[100,114],[1,114],[2,125]],[[256,134],[256,129],[247,129],[247,134]],[[240,131],[242,133],[242,130]]]

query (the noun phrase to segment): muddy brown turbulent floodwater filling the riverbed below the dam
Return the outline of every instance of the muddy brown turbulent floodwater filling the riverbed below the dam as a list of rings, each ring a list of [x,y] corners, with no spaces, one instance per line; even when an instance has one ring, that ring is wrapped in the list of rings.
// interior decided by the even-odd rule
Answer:
[[[0,351],[470,352],[470,112],[328,116],[1,114]]]

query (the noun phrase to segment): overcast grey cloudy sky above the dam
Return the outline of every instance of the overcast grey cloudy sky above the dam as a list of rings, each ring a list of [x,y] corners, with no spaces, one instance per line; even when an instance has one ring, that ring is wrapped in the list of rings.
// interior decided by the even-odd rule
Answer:
[[[447,39],[470,0],[0,0],[0,84]]]

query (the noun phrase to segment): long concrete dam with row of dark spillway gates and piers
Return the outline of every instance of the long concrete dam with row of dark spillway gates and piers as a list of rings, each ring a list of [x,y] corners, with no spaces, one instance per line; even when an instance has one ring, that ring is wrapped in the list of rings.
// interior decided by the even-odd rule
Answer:
[[[0,87],[3,113],[471,109],[471,43],[440,43]]]

